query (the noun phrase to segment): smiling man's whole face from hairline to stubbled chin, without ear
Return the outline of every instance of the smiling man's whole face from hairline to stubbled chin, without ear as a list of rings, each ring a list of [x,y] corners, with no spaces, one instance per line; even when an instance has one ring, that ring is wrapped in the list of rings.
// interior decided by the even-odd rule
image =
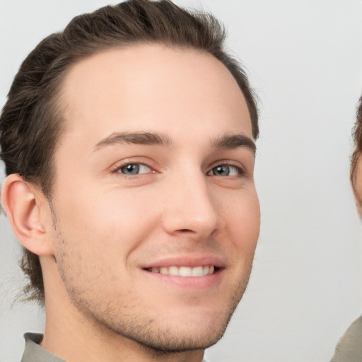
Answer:
[[[153,349],[214,344],[259,233],[233,76],[210,54],[134,45],[76,64],[61,99],[52,240],[74,309]]]

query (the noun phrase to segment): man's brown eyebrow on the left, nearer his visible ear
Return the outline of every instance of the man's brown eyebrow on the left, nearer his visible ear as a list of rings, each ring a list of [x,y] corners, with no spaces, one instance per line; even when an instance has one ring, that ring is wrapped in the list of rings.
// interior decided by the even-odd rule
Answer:
[[[95,145],[93,151],[114,144],[144,144],[170,148],[173,142],[170,137],[157,132],[115,132]]]

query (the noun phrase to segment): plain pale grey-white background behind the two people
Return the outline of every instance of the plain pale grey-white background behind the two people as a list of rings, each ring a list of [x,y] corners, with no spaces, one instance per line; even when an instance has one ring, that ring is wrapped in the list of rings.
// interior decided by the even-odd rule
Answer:
[[[115,1],[0,0],[0,105],[18,66],[73,16]],[[349,187],[351,127],[362,93],[361,0],[176,1],[228,28],[260,98],[256,180],[262,228],[250,286],[216,362],[329,361],[362,313],[360,225]],[[4,176],[1,175],[3,178]],[[42,311],[21,290],[18,245],[0,216],[0,361],[20,361]],[[66,322],[66,321],[64,321]]]

